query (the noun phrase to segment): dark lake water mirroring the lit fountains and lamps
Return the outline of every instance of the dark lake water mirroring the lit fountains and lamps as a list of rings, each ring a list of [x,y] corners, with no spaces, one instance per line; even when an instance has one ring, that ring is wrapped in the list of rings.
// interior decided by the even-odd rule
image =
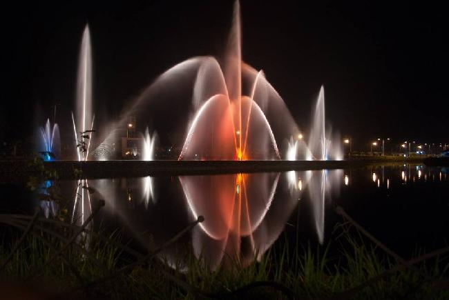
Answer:
[[[229,253],[250,262],[274,243],[327,243],[342,218],[336,206],[375,237],[409,257],[449,238],[449,170],[398,165],[280,173],[117,178],[46,182],[64,200],[41,201],[25,184],[0,185],[0,213],[31,214],[81,224],[104,199],[95,228],[120,229],[133,245],[153,248],[202,215],[205,221],[164,252],[185,251],[213,266]],[[84,187],[84,188],[83,188]],[[87,187],[90,188],[90,194]],[[42,191],[40,191],[41,193]],[[65,210],[64,210],[65,209]]]

